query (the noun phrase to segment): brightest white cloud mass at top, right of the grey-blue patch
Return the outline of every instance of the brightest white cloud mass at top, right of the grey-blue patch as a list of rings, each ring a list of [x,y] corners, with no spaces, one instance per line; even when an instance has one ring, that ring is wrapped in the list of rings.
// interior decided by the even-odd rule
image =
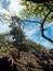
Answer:
[[[21,5],[21,0],[10,0],[10,7],[9,10],[11,14],[19,14],[19,11],[24,9],[23,5]]]

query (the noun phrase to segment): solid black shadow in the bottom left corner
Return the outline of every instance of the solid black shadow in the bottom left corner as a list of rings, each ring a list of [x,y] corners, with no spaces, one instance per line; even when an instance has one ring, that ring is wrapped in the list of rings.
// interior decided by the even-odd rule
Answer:
[[[10,64],[11,64],[11,62],[8,61],[6,57],[0,59],[0,70],[1,71],[17,71],[15,64],[14,64],[13,69]]]

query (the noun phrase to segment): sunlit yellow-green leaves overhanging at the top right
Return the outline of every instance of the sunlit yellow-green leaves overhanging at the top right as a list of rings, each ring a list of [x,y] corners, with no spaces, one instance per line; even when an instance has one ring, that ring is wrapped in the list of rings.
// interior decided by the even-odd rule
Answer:
[[[34,3],[32,1],[22,0],[21,2],[26,8],[21,12],[24,17],[28,17],[30,15],[45,17],[47,13],[51,11],[45,22],[52,22],[53,20],[53,1],[49,3]]]

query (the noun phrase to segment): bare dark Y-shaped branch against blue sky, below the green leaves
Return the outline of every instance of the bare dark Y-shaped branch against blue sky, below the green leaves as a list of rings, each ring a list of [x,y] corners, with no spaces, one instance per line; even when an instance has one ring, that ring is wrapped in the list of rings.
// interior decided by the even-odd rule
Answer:
[[[44,22],[45,22],[47,17],[50,15],[50,13],[51,13],[51,11],[48,12],[48,14],[45,15],[45,17],[44,17],[44,20],[43,20],[42,23],[40,23],[40,22],[38,22],[38,21],[30,21],[30,20],[26,20],[25,22],[28,21],[28,22],[32,22],[32,23],[39,23],[39,24],[41,25],[41,36],[42,36],[43,38],[45,38],[47,40],[53,43],[53,40],[52,40],[51,38],[49,38],[48,36],[44,35],[44,31],[45,31],[45,29],[44,29],[44,27],[43,27]]]

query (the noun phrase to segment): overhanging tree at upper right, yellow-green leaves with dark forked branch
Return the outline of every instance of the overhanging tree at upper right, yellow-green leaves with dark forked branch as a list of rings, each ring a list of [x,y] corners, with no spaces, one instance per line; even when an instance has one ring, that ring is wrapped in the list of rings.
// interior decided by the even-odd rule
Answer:
[[[29,21],[29,20],[27,21],[39,23],[41,26],[42,37],[53,43],[53,40],[48,36],[45,36],[44,34],[44,31],[47,31],[47,28],[44,28],[44,24],[53,22],[53,1],[52,0],[23,0],[22,4],[26,5],[26,9],[24,9],[21,13],[24,17],[28,17],[30,15],[35,15],[36,17],[37,16],[43,17],[43,20],[40,20],[38,22]]]

